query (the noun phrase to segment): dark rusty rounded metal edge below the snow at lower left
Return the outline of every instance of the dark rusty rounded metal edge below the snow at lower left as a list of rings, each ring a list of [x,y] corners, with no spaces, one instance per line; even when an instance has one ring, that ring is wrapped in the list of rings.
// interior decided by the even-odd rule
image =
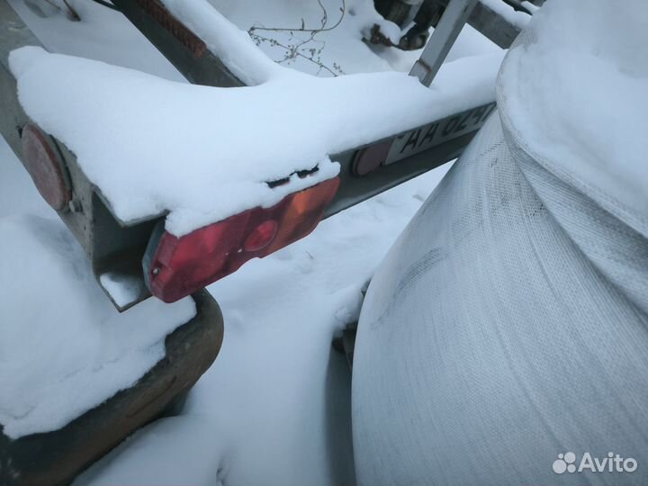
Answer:
[[[218,356],[223,339],[216,301],[206,291],[193,300],[196,317],[166,337],[166,356],[132,387],[52,432],[11,440],[0,428],[0,484],[69,484],[188,391]]]

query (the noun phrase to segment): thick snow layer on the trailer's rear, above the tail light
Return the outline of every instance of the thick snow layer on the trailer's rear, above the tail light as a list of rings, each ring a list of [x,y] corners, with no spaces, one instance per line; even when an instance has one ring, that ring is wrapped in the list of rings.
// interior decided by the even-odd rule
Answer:
[[[283,67],[262,85],[215,88],[35,47],[12,52],[10,66],[25,112],[75,152],[118,218],[169,211],[166,229],[182,236],[337,175],[329,154],[491,102],[502,56],[448,63],[432,88],[394,72]]]

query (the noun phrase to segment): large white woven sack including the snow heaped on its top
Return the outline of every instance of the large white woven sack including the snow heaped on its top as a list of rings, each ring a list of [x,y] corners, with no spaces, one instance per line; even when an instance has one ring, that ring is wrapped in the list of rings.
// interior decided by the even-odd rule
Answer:
[[[647,7],[549,0],[504,59],[499,112],[375,273],[361,486],[554,484],[565,451],[648,461]],[[645,477],[560,478],[583,481]]]

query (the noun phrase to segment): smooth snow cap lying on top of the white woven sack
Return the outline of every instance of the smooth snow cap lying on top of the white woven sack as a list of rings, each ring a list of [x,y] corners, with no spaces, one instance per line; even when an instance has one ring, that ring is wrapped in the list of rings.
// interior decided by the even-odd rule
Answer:
[[[529,25],[531,41],[510,50],[498,88],[507,127],[539,163],[644,231],[646,6],[644,0],[549,0]],[[618,214],[620,206],[625,214]]]

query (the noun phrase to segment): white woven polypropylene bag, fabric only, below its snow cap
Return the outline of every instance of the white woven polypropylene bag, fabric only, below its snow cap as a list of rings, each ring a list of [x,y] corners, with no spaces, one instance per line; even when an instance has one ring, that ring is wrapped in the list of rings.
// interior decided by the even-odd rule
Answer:
[[[645,215],[553,172],[498,103],[369,287],[358,483],[648,484]]]

